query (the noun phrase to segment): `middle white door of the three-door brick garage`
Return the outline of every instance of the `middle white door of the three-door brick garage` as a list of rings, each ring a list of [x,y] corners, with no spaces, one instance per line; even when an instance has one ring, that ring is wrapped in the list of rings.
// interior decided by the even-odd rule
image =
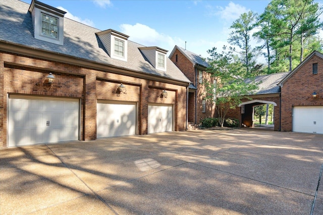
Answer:
[[[97,103],[97,138],[136,134],[136,103]]]

